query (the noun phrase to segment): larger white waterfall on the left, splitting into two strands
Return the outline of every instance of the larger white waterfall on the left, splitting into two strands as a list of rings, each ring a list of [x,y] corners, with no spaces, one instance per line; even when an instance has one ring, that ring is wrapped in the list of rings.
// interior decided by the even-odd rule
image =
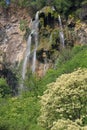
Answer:
[[[39,12],[36,13],[35,20],[31,21],[32,28],[31,28],[31,34],[28,37],[27,40],[27,47],[25,52],[25,58],[23,62],[23,68],[22,68],[22,79],[25,79],[26,71],[27,71],[27,63],[31,54],[31,38],[32,34],[35,37],[35,49],[33,53],[33,63],[32,63],[32,72],[35,72],[35,65],[36,65],[36,51],[38,46],[38,24],[39,24]]]

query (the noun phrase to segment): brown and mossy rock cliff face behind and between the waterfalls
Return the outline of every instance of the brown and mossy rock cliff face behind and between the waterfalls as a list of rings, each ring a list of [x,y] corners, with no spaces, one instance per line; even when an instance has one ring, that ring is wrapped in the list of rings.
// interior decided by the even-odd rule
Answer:
[[[21,29],[20,21],[27,21],[30,25],[31,18],[25,9],[9,10],[8,16],[0,10],[0,63],[4,60],[11,64],[20,64],[26,50],[24,34],[25,27]],[[37,48],[37,74],[42,77],[48,68],[53,66],[61,49],[59,38],[58,13],[49,7],[39,12],[39,45]],[[87,24],[76,21],[70,17],[62,21],[65,45],[87,44]],[[24,31],[23,31],[24,29]],[[21,31],[22,30],[22,31]],[[3,68],[2,66],[0,67]]]

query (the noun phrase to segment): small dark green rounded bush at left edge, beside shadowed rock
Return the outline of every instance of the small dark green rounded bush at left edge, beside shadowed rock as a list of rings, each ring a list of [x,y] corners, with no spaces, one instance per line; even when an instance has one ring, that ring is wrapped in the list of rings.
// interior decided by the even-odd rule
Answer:
[[[0,96],[6,97],[11,94],[10,87],[4,78],[0,78]]]

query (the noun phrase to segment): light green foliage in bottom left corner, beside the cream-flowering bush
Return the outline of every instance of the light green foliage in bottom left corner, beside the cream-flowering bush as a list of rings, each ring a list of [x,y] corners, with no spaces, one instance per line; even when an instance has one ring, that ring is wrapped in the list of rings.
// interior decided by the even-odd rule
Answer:
[[[0,100],[0,130],[43,130],[37,125],[38,99],[27,95]]]

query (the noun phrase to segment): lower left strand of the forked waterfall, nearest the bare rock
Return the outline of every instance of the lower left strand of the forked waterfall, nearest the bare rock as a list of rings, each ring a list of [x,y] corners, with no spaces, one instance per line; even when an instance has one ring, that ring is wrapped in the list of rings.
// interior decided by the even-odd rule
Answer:
[[[31,34],[29,35],[28,40],[27,40],[27,48],[26,48],[25,58],[24,58],[24,62],[23,62],[23,70],[22,70],[23,80],[25,79],[27,62],[28,62],[28,59],[30,56],[30,48],[31,48]]]

